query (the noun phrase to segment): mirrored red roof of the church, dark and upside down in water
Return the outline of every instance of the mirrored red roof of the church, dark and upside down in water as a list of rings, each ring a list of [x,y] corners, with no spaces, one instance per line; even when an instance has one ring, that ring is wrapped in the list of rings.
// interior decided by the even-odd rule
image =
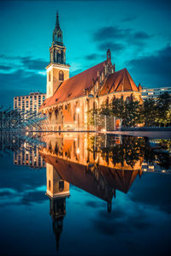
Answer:
[[[44,152],[40,152],[40,154],[46,163],[54,166],[63,180],[100,199],[106,201],[111,199],[110,193],[104,193],[103,190],[99,189],[99,183],[95,180],[92,173],[85,172],[86,166],[84,164],[50,156]],[[115,188],[121,192],[127,193],[136,176],[139,174],[139,170],[115,170],[115,168],[109,169],[107,166],[99,165],[99,173],[103,174],[109,188]]]

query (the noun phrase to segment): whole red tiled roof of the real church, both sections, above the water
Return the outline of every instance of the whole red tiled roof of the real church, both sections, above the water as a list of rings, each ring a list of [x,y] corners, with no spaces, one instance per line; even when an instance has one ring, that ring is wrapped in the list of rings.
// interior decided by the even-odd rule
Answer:
[[[92,68],[88,68],[68,80],[64,80],[54,95],[45,99],[40,110],[50,105],[85,96],[85,89],[92,86],[93,80],[97,80],[97,72],[101,73],[103,71],[105,63],[107,63],[107,61],[99,63]],[[123,68],[114,74],[109,74],[109,77],[104,81],[103,86],[101,86],[98,96],[111,92],[139,92],[139,88],[135,85],[127,68]]]

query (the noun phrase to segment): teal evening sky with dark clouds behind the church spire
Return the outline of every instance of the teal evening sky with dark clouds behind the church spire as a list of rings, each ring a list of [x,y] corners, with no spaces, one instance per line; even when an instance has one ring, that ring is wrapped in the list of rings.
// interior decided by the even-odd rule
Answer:
[[[45,92],[56,10],[70,76],[109,48],[116,71],[127,68],[137,85],[171,86],[170,1],[0,1],[0,106]]]

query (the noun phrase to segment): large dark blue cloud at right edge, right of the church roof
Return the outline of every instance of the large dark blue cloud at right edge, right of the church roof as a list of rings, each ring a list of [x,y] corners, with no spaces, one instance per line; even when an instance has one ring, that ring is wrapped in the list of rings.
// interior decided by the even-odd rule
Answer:
[[[133,59],[127,68],[142,85],[163,86],[170,84],[171,47],[168,45],[154,54]],[[138,81],[138,82],[139,82]]]

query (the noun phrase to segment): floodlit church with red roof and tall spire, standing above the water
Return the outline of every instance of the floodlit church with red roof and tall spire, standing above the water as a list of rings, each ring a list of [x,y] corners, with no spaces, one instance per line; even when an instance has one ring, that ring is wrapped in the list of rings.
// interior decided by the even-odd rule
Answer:
[[[48,129],[88,130],[87,113],[109,104],[115,98],[141,101],[141,86],[136,86],[127,68],[115,71],[108,50],[106,59],[96,66],[69,78],[66,47],[56,14],[56,27],[50,47],[50,64],[46,67],[46,99],[40,110],[48,115]]]

